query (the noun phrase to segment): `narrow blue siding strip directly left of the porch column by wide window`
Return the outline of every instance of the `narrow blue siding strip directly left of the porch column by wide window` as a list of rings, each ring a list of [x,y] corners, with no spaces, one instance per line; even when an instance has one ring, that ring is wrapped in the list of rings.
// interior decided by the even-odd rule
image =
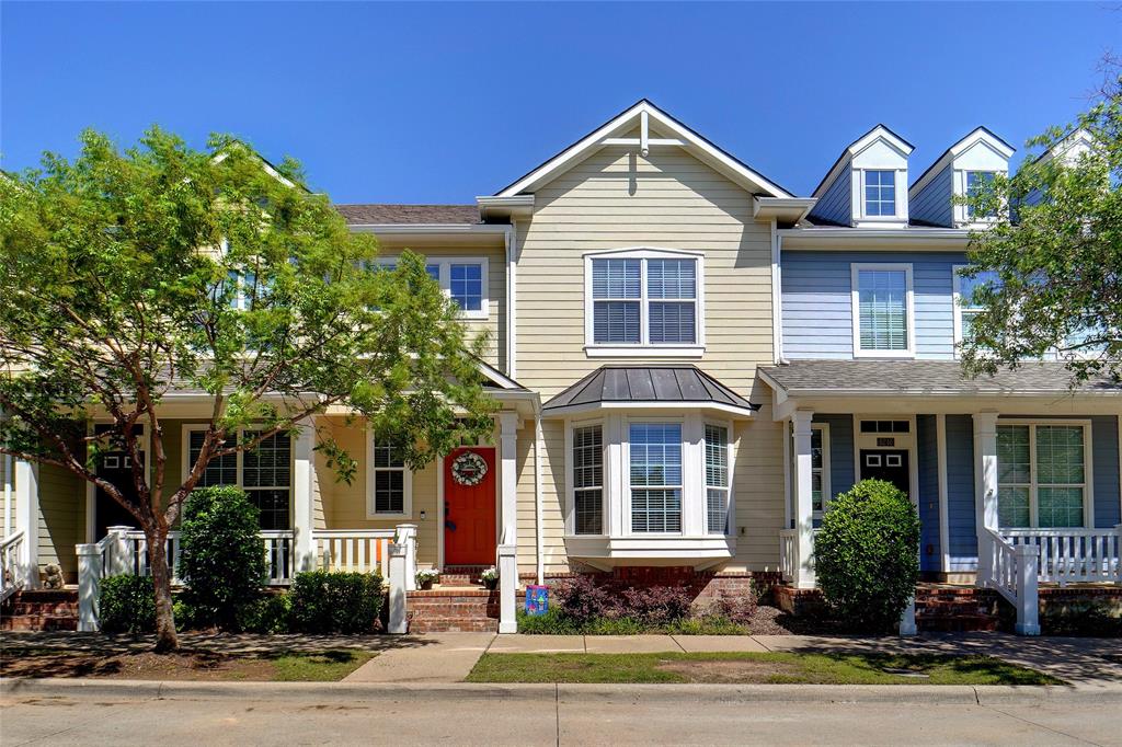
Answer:
[[[951,571],[977,569],[975,527],[974,418],[947,415],[947,528]]]

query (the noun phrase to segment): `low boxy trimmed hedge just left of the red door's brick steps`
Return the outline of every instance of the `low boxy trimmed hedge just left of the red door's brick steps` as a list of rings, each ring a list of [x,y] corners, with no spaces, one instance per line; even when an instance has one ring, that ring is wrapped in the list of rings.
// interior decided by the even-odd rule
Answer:
[[[369,633],[381,611],[381,577],[307,571],[296,574],[291,596],[297,633]]]

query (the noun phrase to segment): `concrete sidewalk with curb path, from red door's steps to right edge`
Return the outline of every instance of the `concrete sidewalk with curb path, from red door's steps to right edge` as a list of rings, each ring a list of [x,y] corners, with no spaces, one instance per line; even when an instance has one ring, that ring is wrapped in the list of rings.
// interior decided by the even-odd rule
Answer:
[[[347,682],[461,682],[484,653],[657,654],[711,652],[849,652],[880,654],[984,654],[1047,672],[1072,683],[1122,683],[1115,638],[1024,638],[1001,633],[858,636],[535,636],[448,633],[417,636],[424,645],[398,646],[356,670]]]

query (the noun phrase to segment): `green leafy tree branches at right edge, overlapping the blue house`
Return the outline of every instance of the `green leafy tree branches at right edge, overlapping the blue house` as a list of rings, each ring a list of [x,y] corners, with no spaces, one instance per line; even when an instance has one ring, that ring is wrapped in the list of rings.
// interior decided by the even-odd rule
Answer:
[[[1092,148],[1068,150],[1073,136]],[[1029,157],[963,199],[993,225],[971,234],[968,276],[982,283],[963,345],[969,374],[1058,351],[1073,384],[1122,378],[1122,77],[1067,128],[1029,141]],[[983,275],[984,274],[984,275]]]

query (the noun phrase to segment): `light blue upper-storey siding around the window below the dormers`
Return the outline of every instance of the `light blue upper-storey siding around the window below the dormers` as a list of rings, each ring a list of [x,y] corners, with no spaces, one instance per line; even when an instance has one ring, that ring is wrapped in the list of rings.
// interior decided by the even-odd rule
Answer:
[[[963,252],[879,253],[784,251],[783,354],[853,358],[853,262],[909,262],[916,294],[916,357],[953,359],[953,267]]]

